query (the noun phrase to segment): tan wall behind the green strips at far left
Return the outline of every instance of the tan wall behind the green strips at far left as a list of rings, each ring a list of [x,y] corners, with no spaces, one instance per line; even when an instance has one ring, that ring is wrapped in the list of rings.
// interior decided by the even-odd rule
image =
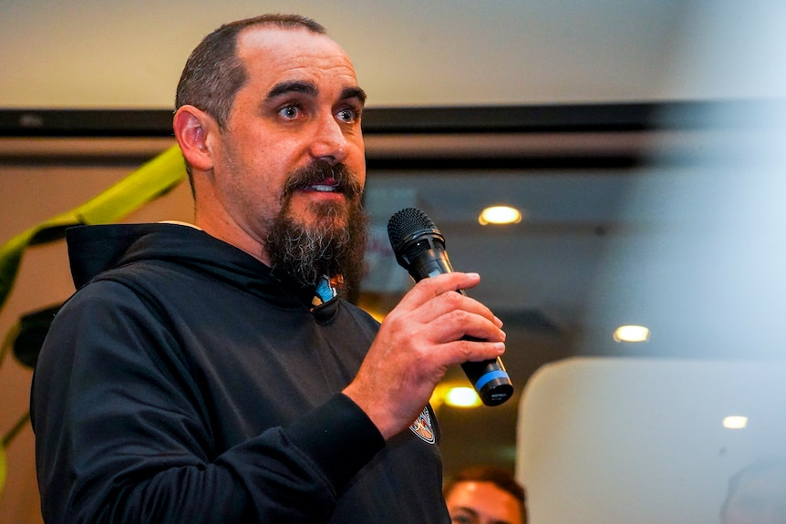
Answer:
[[[5,242],[40,221],[78,206],[127,176],[138,165],[134,161],[105,159],[0,166],[0,210],[3,213],[0,239]],[[160,220],[191,221],[188,184],[181,184],[170,194],[126,218],[126,221]],[[0,334],[5,337],[20,315],[61,303],[73,291],[65,242],[30,248],[23,257],[12,293],[0,310]],[[19,365],[11,354],[6,354],[0,364],[0,432],[5,434],[26,413],[32,373]],[[0,522],[41,521],[33,447],[33,432],[28,424],[6,450],[8,471],[5,488],[0,493]]]

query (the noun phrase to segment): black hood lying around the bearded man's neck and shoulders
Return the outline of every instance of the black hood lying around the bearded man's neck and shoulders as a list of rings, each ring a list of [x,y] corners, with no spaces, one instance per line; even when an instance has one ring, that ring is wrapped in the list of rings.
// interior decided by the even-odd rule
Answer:
[[[78,226],[66,233],[77,289],[135,262],[171,262],[232,283],[283,306],[311,303],[314,288],[274,275],[250,254],[210,234],[174,223]]]

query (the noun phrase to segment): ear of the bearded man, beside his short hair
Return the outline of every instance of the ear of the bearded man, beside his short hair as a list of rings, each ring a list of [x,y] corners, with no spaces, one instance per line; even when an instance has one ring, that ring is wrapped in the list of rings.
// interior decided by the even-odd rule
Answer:
[[[213,166],[211,142],[218,136],[218,123],[202,109],[181,106],[175,112],[172,128],[183,157],[191,169],[207,171]]]

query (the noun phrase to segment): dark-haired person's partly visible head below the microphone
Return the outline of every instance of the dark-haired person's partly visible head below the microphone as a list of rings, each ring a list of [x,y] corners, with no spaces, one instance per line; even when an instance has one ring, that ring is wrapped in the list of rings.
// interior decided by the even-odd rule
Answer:
[[[468,467],[444,493],[454,524],[527,524],[524,488],[501,467]]]

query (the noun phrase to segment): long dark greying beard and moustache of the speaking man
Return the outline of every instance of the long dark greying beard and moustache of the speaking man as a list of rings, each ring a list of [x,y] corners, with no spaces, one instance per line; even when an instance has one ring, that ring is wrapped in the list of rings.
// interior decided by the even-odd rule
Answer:
[[[333,179],[343,202],[314,202],[309,213],[313,224],[292,216],[295,190]],[[359,283],[363,273],[368,217],[361,204],[362,186],[357,177],[339,164],[315,160],[287,177],[281,209],[268,224],[267,254],[276,272],[284,272],[302,286],[314,287],[326,276],[343,281],[346,288]]]

